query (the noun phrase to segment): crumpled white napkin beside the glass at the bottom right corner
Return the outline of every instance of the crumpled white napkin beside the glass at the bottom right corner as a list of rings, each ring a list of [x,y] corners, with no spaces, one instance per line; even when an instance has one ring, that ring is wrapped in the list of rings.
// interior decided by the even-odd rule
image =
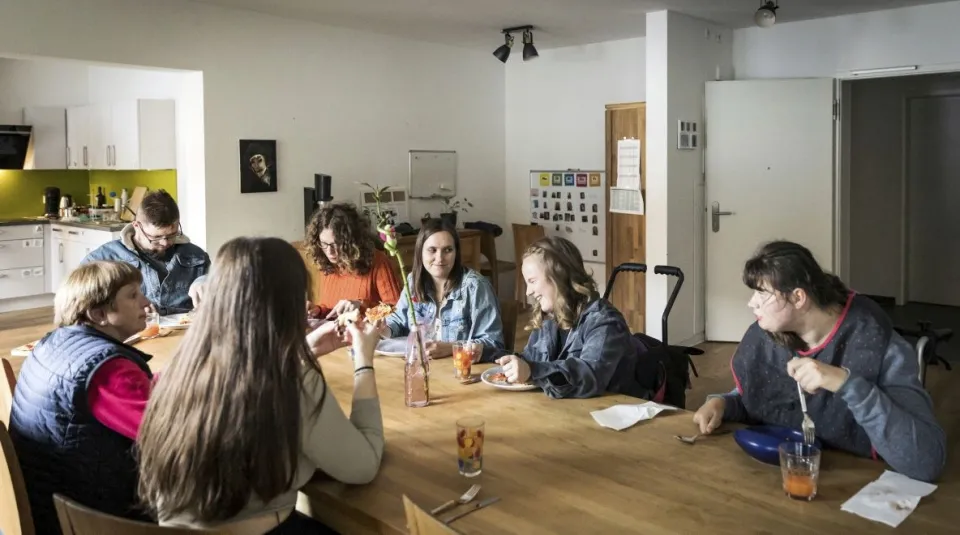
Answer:
[[[887,470],[844,502],[840,509],[895,528],[917,508],[920,498],[935,490],[936,485]]]

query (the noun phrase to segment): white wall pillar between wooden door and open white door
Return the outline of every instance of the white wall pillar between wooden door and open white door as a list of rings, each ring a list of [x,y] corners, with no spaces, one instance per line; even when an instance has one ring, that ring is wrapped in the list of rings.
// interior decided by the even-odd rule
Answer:
[[[647,14],[647,264],[686,275],[670,314],[670,342],[703,339],[703,150],[677,149],[677,122],[703,124],[704,84],[733,75],[732,35],[670,11]],[[709,141],[705,141],[709,143]],[[647,333],[661,336],[660,314],[675,279],[647,277]]]

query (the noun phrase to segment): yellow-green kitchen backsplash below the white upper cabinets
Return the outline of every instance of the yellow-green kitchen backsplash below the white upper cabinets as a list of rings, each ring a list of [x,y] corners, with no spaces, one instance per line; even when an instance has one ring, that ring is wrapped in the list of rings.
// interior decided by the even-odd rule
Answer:
[[[97,187],[110,200],[110,192],[120,196],[123,188],[145,186],[148,190],[165,189],[177,198],[177,172],[163,171],[17,171],[0,169],[0,219],[43,215],[43,191],[47,187],[60,188],[61,195],[70,195],[73,202],[90,204],[90,193]],[[110,204],[112,206],[112,204]]]

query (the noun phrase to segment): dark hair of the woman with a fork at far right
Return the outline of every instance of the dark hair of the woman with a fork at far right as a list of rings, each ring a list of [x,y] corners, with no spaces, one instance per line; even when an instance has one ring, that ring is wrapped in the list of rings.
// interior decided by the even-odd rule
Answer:
[[[743,283],[751,290],[772,290],[777,299],[789,299],[794,290],[803,290],[822,310],[842,309],[850,295],[840,277],[824,271],[809,249],[789,241],[772,241],[760,247],[743,266]],[[768,334],[790,350],[807,349],[797,333]]]

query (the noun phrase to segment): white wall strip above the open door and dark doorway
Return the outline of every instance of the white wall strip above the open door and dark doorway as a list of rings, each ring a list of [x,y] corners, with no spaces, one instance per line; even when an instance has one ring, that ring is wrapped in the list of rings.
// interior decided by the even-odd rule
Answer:
[[[736,30],[736,77],[830,77],[857,69],[955,64],[957,21],[960,2],[947,2]]]

